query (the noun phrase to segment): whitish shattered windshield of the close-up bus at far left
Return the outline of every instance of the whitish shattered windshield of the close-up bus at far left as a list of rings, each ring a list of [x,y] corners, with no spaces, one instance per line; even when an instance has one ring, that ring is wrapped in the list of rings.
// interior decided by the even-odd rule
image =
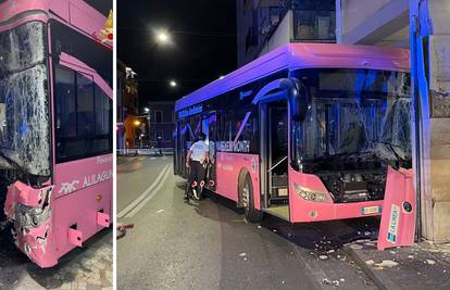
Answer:
[[[40,22],[0,31],[0,155],[38,176],[50,175],[45,39]]]

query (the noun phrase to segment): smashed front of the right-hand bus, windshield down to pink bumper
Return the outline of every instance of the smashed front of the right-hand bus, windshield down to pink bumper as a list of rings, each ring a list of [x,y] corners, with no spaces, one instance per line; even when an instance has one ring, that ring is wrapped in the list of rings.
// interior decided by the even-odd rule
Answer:
[[[291,211],[291,219],[380,214],[392,173],[409,178],[412,167],[409,73],[318,68],[295,75],[307,88],[308,110],[304,119],[292,122],[292,180],[303,178],[323,190],[307,197],[295,185],[309,202]],[[311,201],[334,209],[314,209]]]

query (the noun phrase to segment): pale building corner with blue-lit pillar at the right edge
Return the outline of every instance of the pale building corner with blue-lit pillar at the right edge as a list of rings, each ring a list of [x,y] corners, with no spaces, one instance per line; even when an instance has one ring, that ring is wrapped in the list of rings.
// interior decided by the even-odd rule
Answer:
[[[337,40],[409,48],[418,235],[450,241],[450,1],[336,0]],[[412,39],[411,39],[412,38]]]

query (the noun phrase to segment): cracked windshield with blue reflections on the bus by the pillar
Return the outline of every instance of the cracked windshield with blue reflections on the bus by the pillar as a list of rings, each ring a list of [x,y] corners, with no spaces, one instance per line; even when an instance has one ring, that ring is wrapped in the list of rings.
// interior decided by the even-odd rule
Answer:
[[[307,118],[292,126],[296,167],[411,166],[409,74],[301,70],[296,77],[309,88]]]

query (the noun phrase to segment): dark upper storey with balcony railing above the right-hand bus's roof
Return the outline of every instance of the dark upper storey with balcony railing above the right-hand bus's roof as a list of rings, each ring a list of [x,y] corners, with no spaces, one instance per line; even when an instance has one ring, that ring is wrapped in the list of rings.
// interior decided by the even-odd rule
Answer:
[[[336,42],[335,0],[236,0],[238,65],[289,42]]]

